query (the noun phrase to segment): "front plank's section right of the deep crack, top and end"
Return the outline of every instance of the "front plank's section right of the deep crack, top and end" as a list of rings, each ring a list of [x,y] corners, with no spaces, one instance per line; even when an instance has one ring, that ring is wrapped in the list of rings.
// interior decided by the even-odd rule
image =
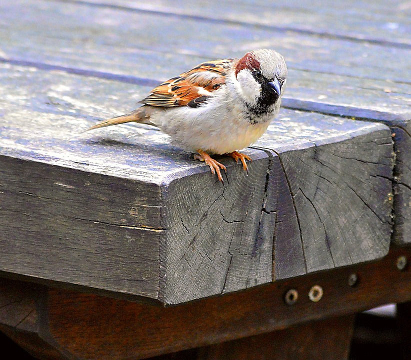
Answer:
[[[282,173],[277,181],[289,188],[289,193],[271,195],[280,204],[280,209],[275,204],[271,209],[277,212],[274,278],[386,253],[392,141],[387,127],[367,124],[283,110],[255,143],[278,155],[279,164],[273,160],[270,175],[277,179]],[[270,187],[278,188],[282,187]]]

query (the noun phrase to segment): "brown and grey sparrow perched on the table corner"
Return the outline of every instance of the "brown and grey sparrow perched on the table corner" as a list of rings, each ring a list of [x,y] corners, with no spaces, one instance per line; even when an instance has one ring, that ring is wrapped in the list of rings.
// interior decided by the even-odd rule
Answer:
[[[152,89],[136,110],[89,130],[129,121],[157,126],[222,182],[226,168],[210,155],[227,154],[248,171],[251,158],[237,150],[257,140],[277,114],[286,77],[284,58],[270,49],[203,62]]]

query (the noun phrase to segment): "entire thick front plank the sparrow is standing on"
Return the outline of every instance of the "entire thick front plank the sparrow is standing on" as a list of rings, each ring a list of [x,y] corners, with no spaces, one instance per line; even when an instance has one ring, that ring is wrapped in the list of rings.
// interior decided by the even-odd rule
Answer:
[[[81,133],[97,116],[130,108],[147,86],[10,64],[0,78],[2,271],[178,303],[387,251],[392,144],[382,124],[283,109],[260,148],[246,150],[248,176],[221,158],[221,185],[150,126]],[[354,219],[353,229],[351,218],[336,223],[349,186],[358,194],[352,216],[370,226],[381,219],[371,238]],[[329,209],[337,196],[344,207]]]

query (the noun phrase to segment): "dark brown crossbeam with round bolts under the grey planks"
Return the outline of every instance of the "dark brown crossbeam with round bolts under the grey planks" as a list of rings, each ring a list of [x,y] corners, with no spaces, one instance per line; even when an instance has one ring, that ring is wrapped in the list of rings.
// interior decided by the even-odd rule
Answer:
[[[306,321],[349,315],[388,302],[411,299],[411,271],[399,271],[409,246],[392,247],[379,260],[318,271],[244,291],[171,307],[143,305],[56,288],[39,288],[37,336],[66,358],[144,358],[289,328]],[[348,277],[357,275],[355,286]],[[6,291],[24,292],[24,282],[2,279]],[[308,298],[320,285],[318,302]],[[298,291],[293,305],[284,302]],[[1,292],[4,296],[4,291]],[[268,335],[267,335],[268,336]],[[263,336],[264,337],[264,336]]]

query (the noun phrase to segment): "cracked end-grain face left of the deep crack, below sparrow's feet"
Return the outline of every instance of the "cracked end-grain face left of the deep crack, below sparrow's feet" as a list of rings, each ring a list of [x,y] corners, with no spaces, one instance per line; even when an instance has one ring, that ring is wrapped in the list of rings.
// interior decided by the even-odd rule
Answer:
[[[256,241],[268,158],[250,153],[248,175],[240,166],[230,166],[227,185],[192,174],[167,187],[167,232],[160,244],[164,303],[271,281],[272,235]]]

